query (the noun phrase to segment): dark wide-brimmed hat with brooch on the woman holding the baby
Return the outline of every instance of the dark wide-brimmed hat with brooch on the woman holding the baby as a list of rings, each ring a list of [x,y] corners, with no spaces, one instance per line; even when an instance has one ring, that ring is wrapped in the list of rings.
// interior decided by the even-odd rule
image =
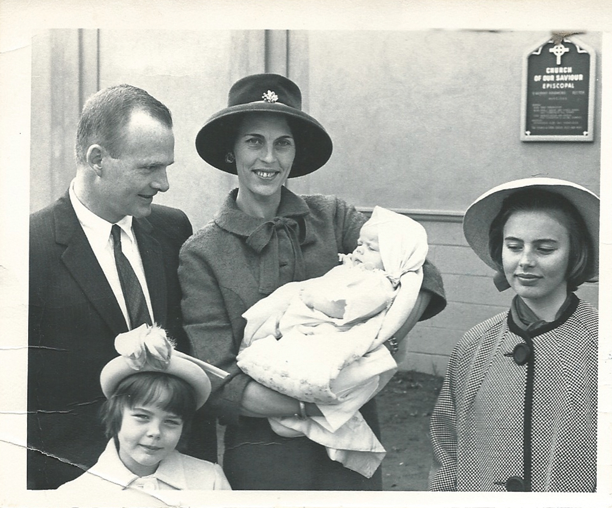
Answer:
[[[254,74],[230,88],[228,107],[212,115],[195,138],[198,154],[211,166],[236,174],[236,164],[225,160],[241,117],[247,112],[277,113],[289,117],[296,140],[296,157],[289,178],[319,169],[332,155],[332,140],[319,122],[302,111],[299,87],[278,74]]]

